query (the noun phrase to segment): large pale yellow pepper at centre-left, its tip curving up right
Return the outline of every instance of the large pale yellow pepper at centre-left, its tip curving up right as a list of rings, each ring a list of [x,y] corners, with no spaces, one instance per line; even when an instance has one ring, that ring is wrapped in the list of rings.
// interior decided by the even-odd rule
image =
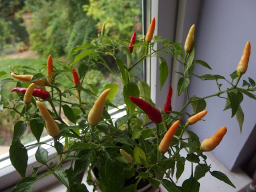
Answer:
[[[96,125],[100,121],[105,99],[110,90],[111,88],[105,89],[95,100],[95,103],[93,104],[88,114],[87,120],[90,125]]]

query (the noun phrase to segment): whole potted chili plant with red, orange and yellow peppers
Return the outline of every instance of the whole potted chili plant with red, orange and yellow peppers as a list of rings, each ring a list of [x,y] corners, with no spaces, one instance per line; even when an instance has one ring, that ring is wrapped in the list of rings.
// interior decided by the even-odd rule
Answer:
[[[203,119],[207,110],[210,110],[206,110],[205,98],[217,96],[226,100],[224,109],[231,108],[231,116],[237,117],[242,129],[244,117],[240,102],[243,95],[256,99],[253,93],[255,81],[244,74],[250,54],[249,41],[244,48],[239,67],[236,70],[236,66],[233,66],[230,75],[196,75],[193,73],[194,67],[211,68],[205,61],[194,59],[195,26],[190,28],[183,45],[162,39],[159,35],[153,36],[154,23],[153,18],[143,38],[136,39],[135,32],[131,31],[131,40],[107,36],[103,27],[102,32],[90,43],[70,50],[70,55],[73,56],[71,62],[60,62],[54,60],[54,55],[50,55],[48,61],[45,58],[47,64],[42,68],[11,68],[11,74],[1,80],[0,84],[8,86],[10,81],[15,81],[16,87],[10,88],[13,88],[10,90],[11,97],[4,94],[1,96],[0,108],[10,109],[11,114],[16,113],[22,117],[22,120],[14,124],[13,140],[9,149],[11,163],[21,176],[12,191],[32,191],[34,183],[49,174],[60,180],[68,191],[88,191],[80,179],[85,171],[88,175],[87,184],[93,185],[93,190],[98,187],[103,192],[136,191],[141,185],[148,183],[155,188],[161,184],[168,191],[198,191],[200,178],[206,172],[235,187],[224,173],[212,170],[204,154],[204,151],[214,149],[221,139],[225,139],[224,134],[228,127],[216,127],[216,133],[209,135],[201,144],[198,136],[189,130],[189,125]],[[161,47],[155,49],[155,43]],[[120,57],[120,53],[125,56]],[[155,107],[150,98],[149,85],[132,75],[132,69],[136,65],[142,64],[147,58],[157,57],[161,88],[167,83],[165,80],[169,75],[164,54],[171,55],[183,66],[183,71],[178,71],[180,78],[177,94],[184,91],[187,100],[178,111],[172,111],[171,108],[171,85],[166,92],[165,105]],[[99,90],[95,85],[87,84],[84,76],[90,67],[97,64],[112,71],[105,60],[106,56],[111,57],[118,67],[117,75],[121,77],[121,84],[105,84],[103,90]],[[203,80],[215,81],[219,91],[203,97],[189,97],[191,76],[201,79],[202,83]],[[70,80],[69,86],[63,84],[63,77]],[[243,84],[238,87],[242,78]],[[219,82],[223,79],[228,87],[226,89]],[[29,85],[28,82],[34,82],[34,89],[27,94],[31,99],[26,98],[24,102],[23,97],[27,90],[24,87]],[[124,104],[121,107],[113,102],[118,88],[123,93]],[[91,99],[83,100],[83,94],[89,95]],[[193,109],[192,114],[184,113],[189,105]],[[110,108],[121,111],[124,115],[112,118]],[[206,127],[207,122],[204,123]],[[40,140],[43,127],[52,136],[49,143]],[[31,145],[20,141],[28,128],[36,139],[31,145],[37,147],[35,158],[39,163],[32,167],[32,172],[26,171],[27,147]],[[48,148],[43,147],[45,145],[54,147],[55,155],[49,156]],[[63,163],[69,163],[68,168],[64,168]],[[184,168],[185,163],[192,164],[189,170]],[[184,171],[191,174],[178,186],[176,181],[181,179]]]

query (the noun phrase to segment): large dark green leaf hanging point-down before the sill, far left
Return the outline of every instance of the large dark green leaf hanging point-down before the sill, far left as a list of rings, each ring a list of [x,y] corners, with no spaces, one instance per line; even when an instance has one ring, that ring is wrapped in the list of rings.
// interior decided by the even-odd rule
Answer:
[[[11,164],[15,167],[18,173],[24,177],[26,173],[28,157],[27,150],[19,139],[11,143],[9,153]]]

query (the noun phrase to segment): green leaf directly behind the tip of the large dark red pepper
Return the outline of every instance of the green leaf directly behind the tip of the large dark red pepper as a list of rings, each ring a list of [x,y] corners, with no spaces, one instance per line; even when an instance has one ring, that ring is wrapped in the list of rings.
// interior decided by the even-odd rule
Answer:
[[[136,106],[131,100],[130,96],[135,96],[139,97],[139,89],[136,85],[136,83],[132,81],[128,81],[124,86],[123,86],[123,97],[124,97],[124,103],[126,104],[129,113],[132,113]]]

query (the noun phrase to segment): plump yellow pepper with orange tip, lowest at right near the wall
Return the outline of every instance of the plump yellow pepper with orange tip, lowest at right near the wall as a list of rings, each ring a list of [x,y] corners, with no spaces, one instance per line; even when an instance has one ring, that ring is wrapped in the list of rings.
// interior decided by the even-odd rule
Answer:
[[[215,134],[213,134],[209,138],[205,138],[201,142],[201,147],[200,147],[201,150],[203,151],[213,150],[220,143],[225,133],[226,133],[226,127],[221,126]]]

